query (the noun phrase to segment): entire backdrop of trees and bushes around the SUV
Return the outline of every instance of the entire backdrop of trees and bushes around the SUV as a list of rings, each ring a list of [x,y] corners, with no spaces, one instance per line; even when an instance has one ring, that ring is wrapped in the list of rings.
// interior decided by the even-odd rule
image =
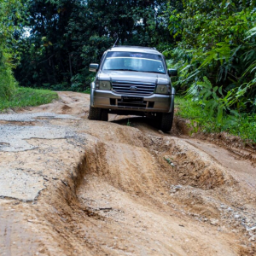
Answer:
[[[23,90],[17,84],[89,92],[90,62],[99,63],[118,38],[117,44],[156,47],[166,55],[168,66],[178,69],[177,94],[185,97],[178,100],[184,102],[180,114],[198,122],[195,127],[254,140],[255,4],[0,0],[1,101]],[[199,109],[205,118],[194,115]]]

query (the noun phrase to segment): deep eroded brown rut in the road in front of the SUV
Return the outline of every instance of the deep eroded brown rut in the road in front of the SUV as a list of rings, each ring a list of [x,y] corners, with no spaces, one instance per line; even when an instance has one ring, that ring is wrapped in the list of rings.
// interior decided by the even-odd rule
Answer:
[[[89,128],[97,124],[90,122]],[[253,230],[248,230],[255,222],[255,198],[208,154],[176,137],[124,125],[101,123],[101,129],[86,132],[90,136],[79,166],[48,192],[55,196],[44,207],[60,252],[256,252]]]

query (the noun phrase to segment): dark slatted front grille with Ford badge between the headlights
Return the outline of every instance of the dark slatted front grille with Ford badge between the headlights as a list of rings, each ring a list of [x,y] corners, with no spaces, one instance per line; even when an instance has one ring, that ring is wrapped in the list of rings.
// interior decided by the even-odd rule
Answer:
[[[154,83],[112,82],[113,91],[119,94],[151,95],[154,93]]]

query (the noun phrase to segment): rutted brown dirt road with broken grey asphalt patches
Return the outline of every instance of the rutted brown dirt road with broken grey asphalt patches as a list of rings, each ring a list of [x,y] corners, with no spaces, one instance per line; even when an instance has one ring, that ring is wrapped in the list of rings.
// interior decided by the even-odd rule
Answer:
[[[0,115],[0,255],[256,255],[253,148],[59,96]]]

